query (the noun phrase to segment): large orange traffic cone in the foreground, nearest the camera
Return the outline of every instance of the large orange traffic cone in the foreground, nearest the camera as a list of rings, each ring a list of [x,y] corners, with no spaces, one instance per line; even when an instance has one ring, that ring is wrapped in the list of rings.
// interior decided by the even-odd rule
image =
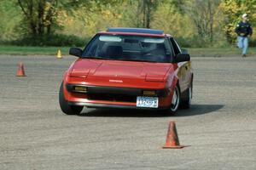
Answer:
[[[175,122],[169,122],[166,144],[163,149],[181,149],[183,147],[183,145],[179,145]]]

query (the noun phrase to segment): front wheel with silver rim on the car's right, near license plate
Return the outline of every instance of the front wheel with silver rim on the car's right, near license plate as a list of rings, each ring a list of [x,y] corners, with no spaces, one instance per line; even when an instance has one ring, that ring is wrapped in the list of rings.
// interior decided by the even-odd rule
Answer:
[[[169,109],[166,111],[166,113],[168,115],[174,115],[179,108],[180,102],[181,102],[181,94],[180,94],[179,86],[177,84],[174,88],[172,103],[171,103]]]

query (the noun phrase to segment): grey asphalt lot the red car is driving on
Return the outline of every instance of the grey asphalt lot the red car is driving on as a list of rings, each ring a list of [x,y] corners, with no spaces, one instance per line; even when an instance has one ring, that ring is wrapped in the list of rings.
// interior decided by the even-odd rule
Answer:
[[[0,169],[256,169],[256,56],[192,57],[189,110],[61,113],[75,57],[0,55]],[[15,77],[22,61],[27,77]],[[164,150],[175,121],[181,150]]]

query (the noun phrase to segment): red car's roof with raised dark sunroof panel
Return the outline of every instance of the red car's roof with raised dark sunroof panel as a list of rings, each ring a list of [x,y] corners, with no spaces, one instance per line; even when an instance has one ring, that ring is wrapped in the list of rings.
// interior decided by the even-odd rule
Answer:
[[[153,36],[153,37],[170,37],[170,35],[164,34],[163,30],[148,29],[148,28],[109,27],[107,29],[107,31],[100,31],[98,33],[138,35],[138,36]]]

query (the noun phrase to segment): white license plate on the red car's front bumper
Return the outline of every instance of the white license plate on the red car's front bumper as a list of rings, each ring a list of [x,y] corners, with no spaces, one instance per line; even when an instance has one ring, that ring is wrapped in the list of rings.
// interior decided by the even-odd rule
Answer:
[[[138,96],[137,107],[158,108],[158,98]]]

